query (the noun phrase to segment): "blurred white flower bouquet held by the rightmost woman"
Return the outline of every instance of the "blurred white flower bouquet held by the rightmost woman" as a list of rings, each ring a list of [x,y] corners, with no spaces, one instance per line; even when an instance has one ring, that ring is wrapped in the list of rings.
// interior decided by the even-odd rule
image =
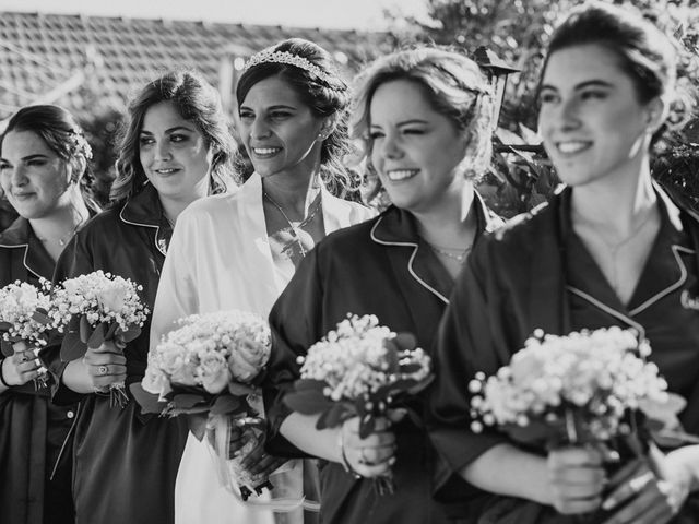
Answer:
[[[471,428],[493,426],[547,446],[629,434],[630,415],[653,416],[674,403],[649,355],[647,341],[616,326],[567,336],[538,330],[508,366],[470,382]]]

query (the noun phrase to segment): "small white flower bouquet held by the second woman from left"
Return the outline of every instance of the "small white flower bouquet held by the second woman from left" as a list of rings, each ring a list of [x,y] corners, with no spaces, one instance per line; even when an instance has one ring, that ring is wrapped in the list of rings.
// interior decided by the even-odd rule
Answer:
[[[142,290],[130,279],[102,270],[63,281],[52,297],[52,308],[70,318],[61,359],[82,358],[87,347],[99,347],[105,341],[118,341],[121,347],[137,338],[149,314],[139,297]],[[118,382],[106,391],[114,405],[128,402],[123,386]]]

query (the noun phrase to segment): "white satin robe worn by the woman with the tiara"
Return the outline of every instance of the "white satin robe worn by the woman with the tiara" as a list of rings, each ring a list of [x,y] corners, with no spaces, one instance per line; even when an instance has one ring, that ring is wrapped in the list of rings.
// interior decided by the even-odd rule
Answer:
[[[325,233],[363,222],[366,207],[321,190]],[[266,318],[293,274],[274,264],[262,207],[262,179],[253,174],[236,192],[194,202],[178,218],[155,300],[151,344],[192,313],[240,309]],[[301,464],[271,478],[275,498],[303,495]],[[265,500],[264,496],[258,500]],[[208,445],[191,433],[176,484],[176,522],[190,524],[301,523],[304,512],[273,514],[241,504],[218,484]]]

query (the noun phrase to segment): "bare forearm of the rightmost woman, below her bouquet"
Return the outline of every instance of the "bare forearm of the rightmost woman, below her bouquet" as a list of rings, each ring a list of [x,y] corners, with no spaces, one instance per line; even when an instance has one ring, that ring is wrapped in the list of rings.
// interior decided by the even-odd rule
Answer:
[[[510,444],[490,448],[460,474],[484,491],[520,497],[541,504],[552,503],[546,458]]]

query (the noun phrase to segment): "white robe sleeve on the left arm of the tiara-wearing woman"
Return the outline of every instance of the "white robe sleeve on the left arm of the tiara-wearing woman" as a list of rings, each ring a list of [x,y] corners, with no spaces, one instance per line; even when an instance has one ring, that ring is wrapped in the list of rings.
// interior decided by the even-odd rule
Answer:
[[[198,243],[197,216],[182,213],[173,231],[167,257],[157,286],[153,318],[151,320],[150,348],[159,343],[163,335],[177,327],[178,319],[199,312],[199,295],[191,250]]]

